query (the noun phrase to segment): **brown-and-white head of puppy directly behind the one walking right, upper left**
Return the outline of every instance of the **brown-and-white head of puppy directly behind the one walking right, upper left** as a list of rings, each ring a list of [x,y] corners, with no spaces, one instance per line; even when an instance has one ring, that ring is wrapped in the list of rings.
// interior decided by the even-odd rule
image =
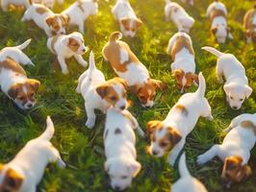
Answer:
[[[68,26],[69,17],[64,14],[53,14],[45,19],[46,24],[52,31],[53,35],[64,35],[65,28]]]

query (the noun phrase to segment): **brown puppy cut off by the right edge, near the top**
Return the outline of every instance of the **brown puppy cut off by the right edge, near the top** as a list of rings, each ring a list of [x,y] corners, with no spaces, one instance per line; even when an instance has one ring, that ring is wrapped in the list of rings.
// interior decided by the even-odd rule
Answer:
[[[243,17],[243,27],[247,43],[256,42],[256,5],[249,10]]]

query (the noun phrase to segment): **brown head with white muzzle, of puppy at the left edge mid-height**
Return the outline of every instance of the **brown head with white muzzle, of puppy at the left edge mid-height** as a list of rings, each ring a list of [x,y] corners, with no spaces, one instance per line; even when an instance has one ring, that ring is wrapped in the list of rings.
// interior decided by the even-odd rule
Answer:
[[[37,80],[27,80],[23,84],[13,84],[8,91],[8,95],[18,108],[23,110],[33,108],[36,104],[35,95],[38,92],[40,82]]]

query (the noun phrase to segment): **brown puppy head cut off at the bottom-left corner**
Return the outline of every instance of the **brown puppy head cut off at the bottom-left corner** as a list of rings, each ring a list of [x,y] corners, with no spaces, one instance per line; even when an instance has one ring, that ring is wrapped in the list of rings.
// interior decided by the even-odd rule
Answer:
[[[23,180],[12,168],[4,170],[4,165],[0,165],[0,191],[17,192]]]

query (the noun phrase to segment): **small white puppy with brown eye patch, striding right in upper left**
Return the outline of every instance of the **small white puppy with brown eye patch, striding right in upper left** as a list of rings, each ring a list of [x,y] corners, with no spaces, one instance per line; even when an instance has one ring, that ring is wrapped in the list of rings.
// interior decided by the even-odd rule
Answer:
[[[82,66],[88,66],[88,62],[82,57],[82,55],[89,50],[84,43],[84,36],[78,32],[74,32],[69,35],[49,37],[47,40],[47,47],[57,56],[62,72],[67,74],[68,69],[65,59],[74,57]]]

